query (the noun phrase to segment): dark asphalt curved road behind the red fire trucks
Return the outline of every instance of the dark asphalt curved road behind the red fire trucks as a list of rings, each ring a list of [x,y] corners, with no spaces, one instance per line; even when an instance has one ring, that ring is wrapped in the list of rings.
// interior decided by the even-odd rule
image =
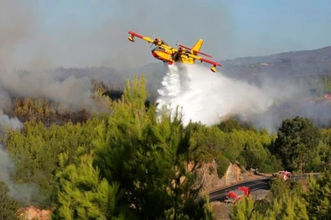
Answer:
[[[303,179],[304,177],[308,177],[309,175],[313,175],[314,177],[317,177],[319,173],[312,173],[312,174],[306,173],[302,175],[295,175],[292,176],[292,179],[299,180],[299,179]],[[226,199],[226,193],[230,190],[236,189],[238,186],[247,186],[250,188],[251,192],[260,189],[268,189],[270,179],[272,179],[272,177],[243,181],[238,184],[233,184],[231,186],[220,188],[219,190],[214,190],[212,192],[209,192],[209,201],[210,202],[223,201],[224,199]]]

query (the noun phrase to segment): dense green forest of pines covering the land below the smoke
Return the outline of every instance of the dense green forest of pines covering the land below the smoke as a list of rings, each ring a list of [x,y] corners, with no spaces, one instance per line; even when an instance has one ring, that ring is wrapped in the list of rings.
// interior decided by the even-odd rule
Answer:
[[[28,205],[51,209],[52,219],[214,219],[208,197],[198,199],[197,172],[213,159],[219,177],[230,162],[263,173],[325,173],[304,190],[274,181],[268,199],[243,200],[232,219],[326,219],[331,129],[299,116],[284,120],[275,135],[234,119],[183,126],[181,115],[160,115],[146,102],[144,76],[119,94],[99,83],[93,89],[102,111],[19,97],[3,107],[23,124],[1,133],[0,153],[14,164],[0,184],[2,219],[15,219]]]

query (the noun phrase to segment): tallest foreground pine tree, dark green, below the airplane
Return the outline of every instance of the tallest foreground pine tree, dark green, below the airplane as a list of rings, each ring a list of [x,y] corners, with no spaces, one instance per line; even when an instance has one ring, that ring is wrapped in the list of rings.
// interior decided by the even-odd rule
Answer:
[[[119,206],[128,206],[137,219],[212,218],[205,201],[197,201],[199,163],[189,159],[196,150],[190,127],[183,127],[179,115],[159,118],[155,104],[146,108],[147,98],[144,78],[134,78],[113,103],[107,125],[97,128],[101,176],[126,192]]]

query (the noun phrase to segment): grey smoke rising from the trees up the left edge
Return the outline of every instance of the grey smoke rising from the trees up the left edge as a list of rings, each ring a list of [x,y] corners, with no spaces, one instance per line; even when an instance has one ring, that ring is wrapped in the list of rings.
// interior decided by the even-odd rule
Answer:
[[[72,73],[60,80],[59,74],[45,70],[52,67],[52,59],[48,56],[51,48],[43,47],[43,43],[51,42],[38,28],[31,1],[1,0],[0,14],[1,100],[11,93],[23,98],[46,98],[74,110],[83,107],[95,110],[90,78],[77,78]],[[38,45],[32,43],[36,41]],[[25,47],[29,43],[36,47]],[[26,58],[30,58],[25,66],[28,71],[18,71],[19,63]]]

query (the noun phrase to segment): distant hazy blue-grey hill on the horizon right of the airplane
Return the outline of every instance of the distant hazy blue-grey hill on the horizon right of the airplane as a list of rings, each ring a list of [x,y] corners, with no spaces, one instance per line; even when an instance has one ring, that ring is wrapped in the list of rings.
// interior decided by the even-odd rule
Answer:
[[[307,77],[331,74],[331,46],[317,50],[284,52],[269,56],[254,56],[220,61],[223,74],[236,78]]]

